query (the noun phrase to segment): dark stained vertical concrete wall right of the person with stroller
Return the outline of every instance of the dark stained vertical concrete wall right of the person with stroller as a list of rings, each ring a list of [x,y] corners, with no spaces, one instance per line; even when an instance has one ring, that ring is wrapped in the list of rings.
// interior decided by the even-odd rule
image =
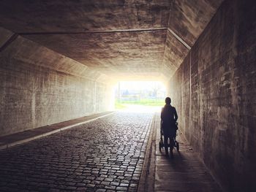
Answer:
[[[227,191],[256,184],[253,1],[224,1],[170,80],[179,128]]]

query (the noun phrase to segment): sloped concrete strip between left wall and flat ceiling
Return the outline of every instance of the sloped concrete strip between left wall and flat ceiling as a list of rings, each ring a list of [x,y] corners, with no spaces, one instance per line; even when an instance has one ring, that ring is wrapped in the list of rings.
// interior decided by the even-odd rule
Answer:
[[[8,42],[13,33],[1,27],[0,30],[1,44],[7,44],[1,47],[1,66],[8,64],[12,60],[18,60],[26,64],[42,66],[89,80],[97,80],[99,82],[111,80],[110,77],[99,73],[97,69],[94,70],[89,66],[80,64],[78,61],[67,58],[29,39],[17,35],[15,39]]]

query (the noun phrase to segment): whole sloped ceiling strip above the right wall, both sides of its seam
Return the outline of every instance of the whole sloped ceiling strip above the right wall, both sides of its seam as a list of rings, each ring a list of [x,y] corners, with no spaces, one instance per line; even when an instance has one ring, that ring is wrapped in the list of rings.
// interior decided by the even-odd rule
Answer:
[[[192,47],[206,28],[223,0],[173,0],[167,28]],[[189,49],[167,31],[163,65],[167,77],[171,77],[181,65]]]

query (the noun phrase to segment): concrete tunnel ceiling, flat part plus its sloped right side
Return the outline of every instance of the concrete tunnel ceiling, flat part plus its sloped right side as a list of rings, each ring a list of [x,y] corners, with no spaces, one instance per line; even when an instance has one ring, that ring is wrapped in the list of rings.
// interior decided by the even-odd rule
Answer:
[[[2,0],[0,26],[111,77],[167,80],[221,2]]]

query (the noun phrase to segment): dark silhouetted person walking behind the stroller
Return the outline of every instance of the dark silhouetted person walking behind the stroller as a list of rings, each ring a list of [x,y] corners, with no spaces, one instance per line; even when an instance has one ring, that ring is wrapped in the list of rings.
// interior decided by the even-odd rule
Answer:
[[[162,131],[164,134],[165,143],[165,155],[168,155],[168,138],[172,142],[172,138],[176,137],[176,120],[178,115],[175,107],[170,105],[170,97],[165,98],[165,107],[162,108],[161,112],[161,123]]]

